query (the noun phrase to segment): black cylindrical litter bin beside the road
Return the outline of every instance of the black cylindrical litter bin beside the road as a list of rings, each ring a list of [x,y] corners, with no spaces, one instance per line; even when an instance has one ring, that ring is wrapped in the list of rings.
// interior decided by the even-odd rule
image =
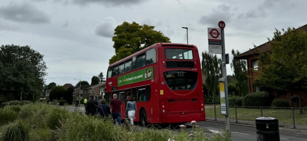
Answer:
[[[279,122],[273,117],[259,117],[255,119],[257,141],[280,141]]]

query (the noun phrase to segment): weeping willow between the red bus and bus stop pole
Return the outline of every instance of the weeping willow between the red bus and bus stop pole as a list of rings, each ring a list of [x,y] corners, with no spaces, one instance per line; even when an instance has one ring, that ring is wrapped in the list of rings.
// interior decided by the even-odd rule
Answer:
[[[216,54],[210,54],[204,51],[202,54],[201,68],[203,75],[206,77],[204,82],[208,95],[215,97],[220,94],[219,91],[219,78],[223,77],[222,74],[222,60],[217,58]]]

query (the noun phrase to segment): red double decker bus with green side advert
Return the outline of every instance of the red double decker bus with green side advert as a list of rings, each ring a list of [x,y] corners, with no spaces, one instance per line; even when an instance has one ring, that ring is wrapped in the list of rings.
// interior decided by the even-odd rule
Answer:
[[[142,125],[205,121],[201,74],[196,46],[156,43],[109,66],[104,98],[118,95],[123,119],[133,95]]]

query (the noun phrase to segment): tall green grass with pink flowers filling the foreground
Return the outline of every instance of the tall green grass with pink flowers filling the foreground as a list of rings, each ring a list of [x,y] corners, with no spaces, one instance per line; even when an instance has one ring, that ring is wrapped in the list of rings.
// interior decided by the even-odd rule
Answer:
[[[174,133],[170,129],[146,128],[143,131],[115,126],[111,117],[89,117],[80,112],[46,104],[26,104],[0,109],[0,141],[229,141],[230,133],[207,135],[193,125],[192,132]],[[3,118],[2,118],[3,117]],[[0,122],[0,123],[1,123]],[[1,124],[0,124],[1,125]],[[192,135],[191,135],[192,134]]]

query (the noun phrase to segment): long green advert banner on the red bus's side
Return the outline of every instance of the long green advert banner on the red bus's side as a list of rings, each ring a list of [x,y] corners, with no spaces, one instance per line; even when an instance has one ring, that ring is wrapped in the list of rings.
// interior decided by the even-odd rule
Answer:
[[[150,79],[153,79],[153,67],[149,67],[123,76],[119,76],[117,78],[118,81],[117,86],[127,85]]]

